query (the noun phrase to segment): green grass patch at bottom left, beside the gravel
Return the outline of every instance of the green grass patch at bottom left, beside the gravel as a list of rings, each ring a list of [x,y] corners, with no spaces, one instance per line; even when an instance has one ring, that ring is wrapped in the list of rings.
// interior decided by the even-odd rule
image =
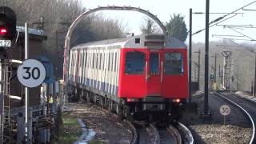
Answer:
[[[77,118],[63,114],[62,122],[62,126],[59,129],[58,142],[55,143],[70,144],[77,141],[82,134]]]

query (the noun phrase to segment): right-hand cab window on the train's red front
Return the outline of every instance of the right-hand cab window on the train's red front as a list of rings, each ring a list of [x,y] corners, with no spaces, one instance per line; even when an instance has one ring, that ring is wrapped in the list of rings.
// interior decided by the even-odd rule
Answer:
[[[183,58],[181,53],[166,53],[164,61],[165,74],[183,74]]]

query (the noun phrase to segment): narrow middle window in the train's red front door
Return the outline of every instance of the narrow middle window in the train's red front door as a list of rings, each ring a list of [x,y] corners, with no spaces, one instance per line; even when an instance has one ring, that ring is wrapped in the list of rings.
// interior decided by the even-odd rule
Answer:
[[[150,54],[150,74],[159,74],[159,54]]]

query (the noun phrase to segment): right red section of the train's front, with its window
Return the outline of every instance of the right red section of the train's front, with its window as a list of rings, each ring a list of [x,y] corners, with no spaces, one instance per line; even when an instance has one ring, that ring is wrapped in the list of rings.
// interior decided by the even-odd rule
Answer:
[[[186,50],[162,51],[162,97],[187,98],[188,77]]]

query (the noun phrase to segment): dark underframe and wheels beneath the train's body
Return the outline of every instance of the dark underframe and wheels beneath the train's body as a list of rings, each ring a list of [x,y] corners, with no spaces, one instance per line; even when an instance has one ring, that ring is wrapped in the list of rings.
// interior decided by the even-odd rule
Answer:
[[[148,97],[157,99],[149,101],[146,98],[120,98],[119,102],[107,97],[106,94],[95,93],[94,90],[88,90],[81,87],[72,86],[72,94],[70,96],[78,102],[91,102],[98,106],[102,106],[106,110],[110,110],[118,114],[120,118],[126,118],[129,121],[146,121],[158,123],[177,122],[182,118],[183,104],[182,102],[174,103],[169,98]]]

